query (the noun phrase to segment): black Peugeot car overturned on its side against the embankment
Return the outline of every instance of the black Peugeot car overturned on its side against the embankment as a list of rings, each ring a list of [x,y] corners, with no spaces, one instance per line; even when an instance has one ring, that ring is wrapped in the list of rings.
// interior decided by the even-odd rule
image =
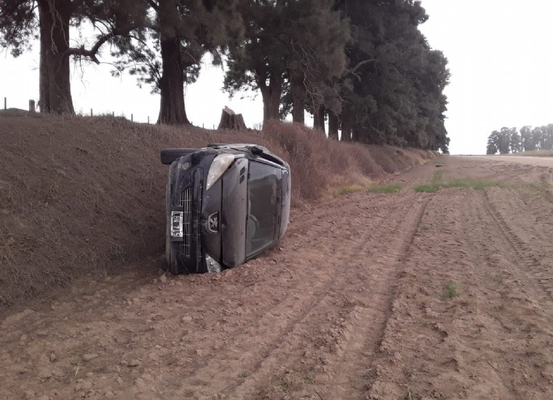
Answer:
[[[173,274],[221,272],[254,258],[285,234],[290,166],[256,144],[164,149],[165,267]]]

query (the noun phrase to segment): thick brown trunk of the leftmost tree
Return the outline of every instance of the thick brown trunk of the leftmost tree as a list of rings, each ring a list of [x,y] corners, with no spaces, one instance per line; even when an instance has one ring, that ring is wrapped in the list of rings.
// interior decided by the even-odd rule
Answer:
[[[41,113],[74,114],[69,68],[71,1],[38,0]]]

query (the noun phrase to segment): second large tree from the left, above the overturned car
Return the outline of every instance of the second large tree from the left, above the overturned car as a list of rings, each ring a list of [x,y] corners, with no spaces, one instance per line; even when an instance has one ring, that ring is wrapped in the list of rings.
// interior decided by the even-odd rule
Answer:
[[[160,124],[189,124],[185,84],[196,81],[206,53],[221,64],[225,46],[242,37],[234,0],[142,0],[149,7],[147,40],[129,38],[114,55],[119,75],[128,69],[138,84],[160,93]]]

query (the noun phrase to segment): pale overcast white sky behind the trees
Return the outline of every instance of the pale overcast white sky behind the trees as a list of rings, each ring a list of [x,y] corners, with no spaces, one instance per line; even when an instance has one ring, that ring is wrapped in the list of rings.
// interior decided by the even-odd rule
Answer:
[[[432,48],[449,60],[446,128],[452,154],[483,154],[491,131],[553,123],[553,0],[422,0],[429,21],[421,26]],[[38,46],[13,59],[0,58],[0,97],[8,107],[38,100]],[[109,64],[75,68],[75,111],[111,113],[155,122],[158,95],[140,89],[133,77],[112,78]],[[263,120],[261,95],[229,100],[220,88],[220,68],[205,66],[186,91],[192,123],[212,128],[225,105],[243,113],[247,126]],[[1,104],[3,106],[3,102]]]

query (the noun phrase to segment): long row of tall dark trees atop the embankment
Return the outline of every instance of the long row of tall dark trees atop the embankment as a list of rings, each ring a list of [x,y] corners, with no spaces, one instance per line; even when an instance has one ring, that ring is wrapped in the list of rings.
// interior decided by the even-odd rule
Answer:
[[[71,57],[100,62],[109,45],[115,74],[160,93],[158,122],[187,124],[184,85],[211,53],[228,93],[261,92],[265,121],[308,111],[335,139],[447,151],[449,71],[427,18],[413,0],[0,0],[0,45],[17,56],[39,39],[48,113],[74,112]],[[71,46],[88,25],[93,42]]]

